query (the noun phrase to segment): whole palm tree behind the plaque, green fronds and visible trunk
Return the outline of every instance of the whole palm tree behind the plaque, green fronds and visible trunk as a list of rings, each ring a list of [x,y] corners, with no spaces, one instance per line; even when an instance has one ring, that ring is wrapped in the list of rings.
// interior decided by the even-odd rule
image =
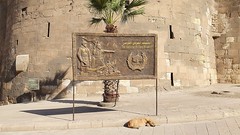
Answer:
[[[117,33],[115,23],[122,23],[133,20],[137,15],[144,14],[146,0],[89,0],[89,9],[94,17],[90,20],[90,24],[106,24],[106,33]],[[103,102],[116,102],[118,100],[118,84],[119,80],[104,80]],[[111,89],[109,89],[111,88]],[[112,89],[113,88],[113,89]]]

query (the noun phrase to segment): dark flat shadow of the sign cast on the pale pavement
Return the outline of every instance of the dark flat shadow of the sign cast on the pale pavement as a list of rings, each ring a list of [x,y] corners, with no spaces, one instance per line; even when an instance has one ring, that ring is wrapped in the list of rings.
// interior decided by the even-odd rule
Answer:
[[[81,106],[75,108],[75,113],[98,113],[115,111],[113,109],[98,108],[98,107],[88,107]],[[25,110],[25,113],[32,113],[37,115],[49,116],[49,115],[62,115],[62,114],[72,114],[72,108],[57,108],[57,109],[40,109],[40,110]]]

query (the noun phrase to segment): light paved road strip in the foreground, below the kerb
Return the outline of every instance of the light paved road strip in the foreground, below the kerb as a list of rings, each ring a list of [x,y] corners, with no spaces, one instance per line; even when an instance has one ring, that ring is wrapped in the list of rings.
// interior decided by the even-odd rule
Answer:
[[[162,124],[157,127],[124,127],[2,132],[1,135],[239,135],[240,117],[221,120]]]

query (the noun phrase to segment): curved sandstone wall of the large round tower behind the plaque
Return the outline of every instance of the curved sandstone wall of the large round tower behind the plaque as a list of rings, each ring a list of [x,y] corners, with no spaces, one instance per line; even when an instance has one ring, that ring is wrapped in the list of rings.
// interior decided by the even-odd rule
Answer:
[[[27,91],[29,78],[54,78],[71,67],[72,33],[102,33],[104,24],[89,26],[87,0],[7,1],[5,46],[2,57],[3,95],[16,97]],[[158,35],[158,76],[161,87],[216,83],[212,16],[213,0],[151,0],[146,14],[127,24],[119,33]],[[1,46],[3,46],[1,44]],[[15,71],[16,56],[29,55],[26,71]],[[71,79],[71,71],[65,79]],[[155,80],[121,81],[120,92],[153,89]],[[101,93],[101,82],[77,85],[80,94]]]

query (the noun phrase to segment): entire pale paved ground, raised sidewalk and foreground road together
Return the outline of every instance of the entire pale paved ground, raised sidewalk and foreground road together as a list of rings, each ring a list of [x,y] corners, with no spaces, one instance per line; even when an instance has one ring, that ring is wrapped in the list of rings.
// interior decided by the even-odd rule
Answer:
[[[109,134],[240,134],[239,90],[238,85],[218,84],[162,91],[158,96],[158,116],[155,116],[155,92],[121,95],[114,108],[98,107],[101,96],[77,98],[75,121],[72,121],[71,99],[0,106],[0,134],[31,134],[33,131],[43,134],[48,130],[48,134],[96,134],[98,131],[98,134],[105,131]],[[218,94],[211,94],[213,91]],[[123,127],[135,117],[151,117],[160,126],[139,130]]]

